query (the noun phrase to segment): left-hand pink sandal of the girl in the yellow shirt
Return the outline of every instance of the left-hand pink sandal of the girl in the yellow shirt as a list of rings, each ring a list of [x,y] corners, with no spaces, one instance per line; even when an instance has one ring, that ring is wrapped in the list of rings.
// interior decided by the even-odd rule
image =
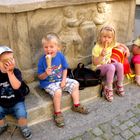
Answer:
[[[113,100],[113,90],[110,90],[107,87],[104,87],[104,96],[107,99],[107,101],[112,102],[112,100]]]

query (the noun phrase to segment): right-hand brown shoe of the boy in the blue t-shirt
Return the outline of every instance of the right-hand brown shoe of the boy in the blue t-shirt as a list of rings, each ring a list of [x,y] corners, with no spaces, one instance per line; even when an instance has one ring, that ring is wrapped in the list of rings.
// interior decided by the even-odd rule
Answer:
[[[75,112],[79,112],[79,113],[82,113],[82,114],[88,114],[89,113],[88,109],[85,106],[82,106],[82,105],[79,105],[77,107],[73,105],[71,109]]]

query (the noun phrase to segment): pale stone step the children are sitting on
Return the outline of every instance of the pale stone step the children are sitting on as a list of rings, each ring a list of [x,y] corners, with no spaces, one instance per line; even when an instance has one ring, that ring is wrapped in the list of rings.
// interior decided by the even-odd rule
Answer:
[[[132,81],[125,78],[124,84],[130,84]],[[39,88],[37,81],[28,84],[30,94],[26,96],[26,106],[28,112],[29,126],[49,120],[53,117],[53,103],[49,94]],[[100,96],[101,86],[88,87],[80,90],[80,102],[87,104],[94,101],[97,96]],[[69,94],[63,93],[62,96],[62,111],[69,110],[72,105],[72,100]],[[11,116],[7,116],[7,121],[15,123]]]

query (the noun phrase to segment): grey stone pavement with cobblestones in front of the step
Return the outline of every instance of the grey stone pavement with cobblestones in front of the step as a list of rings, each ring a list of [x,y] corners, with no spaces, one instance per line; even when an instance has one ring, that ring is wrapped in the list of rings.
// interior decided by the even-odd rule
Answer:
[[[126,96],[114,94],[113,102],[96,98],[87,104],[88,115],[64,113],[65,127],[53,120],[31,126],[32,140],[140,140],[140,87],[125,86]],[[0,140],[23,140],[19,129],[9,127]]]

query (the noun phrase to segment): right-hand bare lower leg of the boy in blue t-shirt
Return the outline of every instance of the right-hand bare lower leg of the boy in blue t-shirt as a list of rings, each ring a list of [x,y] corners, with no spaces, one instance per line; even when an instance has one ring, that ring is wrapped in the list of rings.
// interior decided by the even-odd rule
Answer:
[[[79,104],[79,84],[76,84],[72,91],[72,99],[74,104]]]

